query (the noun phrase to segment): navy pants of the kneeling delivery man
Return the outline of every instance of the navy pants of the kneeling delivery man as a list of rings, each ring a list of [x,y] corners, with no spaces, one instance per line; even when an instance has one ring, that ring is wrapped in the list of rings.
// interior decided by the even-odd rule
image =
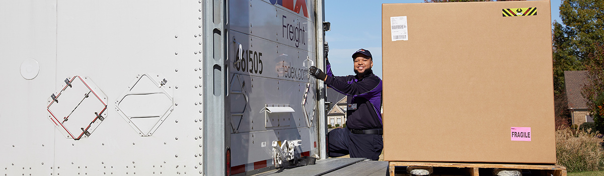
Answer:
[[[353,134],[348,128],[329,131],[329,157],[350,154],[351,158],[378,160],[384,148],[381,134]]]

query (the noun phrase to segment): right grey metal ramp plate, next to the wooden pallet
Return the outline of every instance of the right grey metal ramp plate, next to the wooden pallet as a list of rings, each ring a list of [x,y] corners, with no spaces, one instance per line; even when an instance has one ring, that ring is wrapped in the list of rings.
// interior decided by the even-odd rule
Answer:
[[[324,176],[358,175],[358,176],[384,176],[388,174],[388,162],[363,161],[354,165],[329,172]]]

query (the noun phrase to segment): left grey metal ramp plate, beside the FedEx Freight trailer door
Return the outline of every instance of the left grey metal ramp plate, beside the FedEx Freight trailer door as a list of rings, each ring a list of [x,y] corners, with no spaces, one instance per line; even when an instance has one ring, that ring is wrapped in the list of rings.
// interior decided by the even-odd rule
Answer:
[[[278,175],[288,175],[288,176],[309,176],[309,175],[324,175],[332,171],[336,171],[338,169],[344,168],[346,166],[353,165],[358,162],[362,162],[365,160],[364,158],[329,158],[324,160],[316,160],[315,165],[306,165],[298,168],[285,169],[283,172],[275,173],[277,170],[265,172],[262,174],[257,174],[255,176],[278,176]],[[388,166],[388,163],[386,163]]]

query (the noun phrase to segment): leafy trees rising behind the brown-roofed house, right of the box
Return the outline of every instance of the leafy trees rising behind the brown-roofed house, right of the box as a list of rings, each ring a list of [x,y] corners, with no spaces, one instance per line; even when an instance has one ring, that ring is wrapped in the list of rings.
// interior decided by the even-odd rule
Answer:
[[[602,80],[597,80],[596,72],[597,69],[602,70],[601,66],[597,66],[597,55],[602,55],[604,50],[597,51],[597,48],[604,44],[604,1],[563,0],[560,17],[562,24],[553,23],[554,96],[556,101],[565,99],[564,71],[591,70],[588,78],[591,83],[588,85],[591,86],[584,87],[588,90],[583,90],[583,95],[593,112],[597,107],[597,95],[602,94],[601,87],[597,87]],[[596,127],[602,131],[604,122],[601,118],[596,119],[599,118],[594,118]]]

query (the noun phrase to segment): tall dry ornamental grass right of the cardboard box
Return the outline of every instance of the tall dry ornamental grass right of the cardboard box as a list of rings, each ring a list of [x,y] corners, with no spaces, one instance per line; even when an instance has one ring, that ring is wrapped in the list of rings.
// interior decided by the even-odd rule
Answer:
[[[596,134],[591,129],[575,133],[570,128],[556,130],[556,163],[565,166],[568,172],[604,169],[602,139]]]

